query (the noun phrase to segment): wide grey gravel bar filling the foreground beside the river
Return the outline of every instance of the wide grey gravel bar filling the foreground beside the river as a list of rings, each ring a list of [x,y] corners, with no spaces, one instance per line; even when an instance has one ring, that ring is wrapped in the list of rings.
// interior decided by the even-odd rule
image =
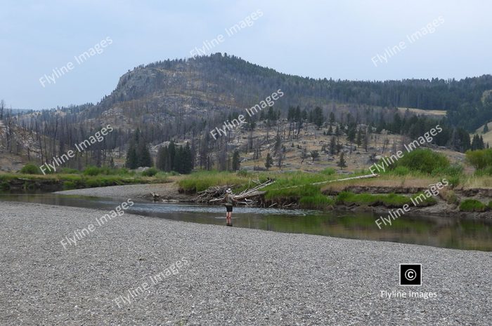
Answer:
[[[0,202],[0,325],[492,323],[491,252],[107,213]],[[399,263],[422,286],[399,286]]]

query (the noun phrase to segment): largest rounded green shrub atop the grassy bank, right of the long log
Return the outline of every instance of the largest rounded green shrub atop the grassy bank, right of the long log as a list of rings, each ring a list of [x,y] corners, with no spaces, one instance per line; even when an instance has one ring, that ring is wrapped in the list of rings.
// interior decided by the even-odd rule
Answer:
[[[415,149],[406,153],[399,161],[396,161],[390,168],[403,166],[411,171],[424,172],[431,174],[438,169],[449,167],[449,160],[443,154],[436,153],[430,149]]]

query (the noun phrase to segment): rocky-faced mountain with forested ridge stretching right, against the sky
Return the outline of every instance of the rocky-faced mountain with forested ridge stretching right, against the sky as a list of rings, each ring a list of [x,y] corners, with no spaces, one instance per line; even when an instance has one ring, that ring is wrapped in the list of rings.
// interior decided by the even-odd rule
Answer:
[[[137,101],[145,107],[166,112],[182,105],[190,113],[202,109],[251,107],[281,88],[287,105],[313,107],[356,104],[373,107],[440,109],[450,113],[451,123],[462,121],[462,111],[481,109],[484,92],[492,90],[492,76],[454,79],[406,79],[403,81],[341,81],[311,79],[276,72],[246,62],[234,55],[216,53],[188,60],[165,60],[135,67],[124,74],[111,95],[91,109],[100,114],[119,103]],[[465,109],[465,107],[467,107]],[[492,112],[486,117],[491,118]],[[483,124],[483,116],[470,125]]]

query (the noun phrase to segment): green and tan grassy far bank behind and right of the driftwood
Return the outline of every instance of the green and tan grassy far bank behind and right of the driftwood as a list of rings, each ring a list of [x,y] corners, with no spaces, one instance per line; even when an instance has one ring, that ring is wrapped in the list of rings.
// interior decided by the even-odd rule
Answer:
[[[456,195],[458,189],[467,184],[476,185],[477,179],[474,176],[467,176],[461,171],[454,169],[444,171],[434,171],[433,173],[412,172],[410,170],[401,173],[400,170],[389,170],[380,177],[371,179],[352,179],[347,181],[336,181],[346,177],[357,175],[368,175],[367,171],[359,171],[351,175],[339,175],[334,170],[323,172],[214,172],[200,171],[191,175],[184,176],[179,181],[182,191],[195,193],[205,190],[210,186],[232,186],[235,193],[254,186],[252,180],[264,182],[266,179],[275,179],[276,182],[262,189],[266,191],[264,195],[265,205],[276,203],[278,207],[292,204],[290,207],[328,210],[339,206],[384,206],[385,208],[401,208],[403,205],[413,205],[413,201],[419,207],[436,205],[439,196],[449,204],[458,205],[460,200]],[[425,196],[425,189],[429,186],[441,182],[442,179],[450,180],[455,178],[455,184],[449,184],[441,189],[439,196]],[[459,182],[457,181],[459,179]],[[492,178],[491,178],[492,179]],[[313,184],[322,182],[321,184]],[[323,183],[325,182],[325,183]],[[481,179],[481,186],[488,182]],[[354,192],[350,189],[358,187],[367,189],[362,192]],[[360,190],[359,189],[359,190]],[[454,189],[454,190],[453,190]],[[381,193],[375,193],[380,191]],[[406,192],[404,194],[395,192]],[[330,195],[330,196],[328,196]],[[418,199],[416,199],[418,198]],[[470,204],[461,206],[462,211],[481,211],[491,209],[490,205],[479,205],[474,203],[470,210]]]

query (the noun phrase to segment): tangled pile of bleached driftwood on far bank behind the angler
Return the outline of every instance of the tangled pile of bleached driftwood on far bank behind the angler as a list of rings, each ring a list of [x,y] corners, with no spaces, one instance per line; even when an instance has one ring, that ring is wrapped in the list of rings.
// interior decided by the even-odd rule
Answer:
[[[245,189],[240,193],[234,195],[236,201],[239,201],[239,204],[245,205],[253,205],[258,204],[258,201],[261,201],[261,195],[264,195],[266,191],[260,191],[260,189],[273,184],[275,180],[268,179],[266,182],[259,182],[252,180],[255,186],[252,188]],[[200,191],[198,193],[198,201],[205,203],[216,203],[224,200],[224,196],[226,194],[226,190],[228,188],[232,188],[233,185],[226,186],[211,186],[207,190]]]

